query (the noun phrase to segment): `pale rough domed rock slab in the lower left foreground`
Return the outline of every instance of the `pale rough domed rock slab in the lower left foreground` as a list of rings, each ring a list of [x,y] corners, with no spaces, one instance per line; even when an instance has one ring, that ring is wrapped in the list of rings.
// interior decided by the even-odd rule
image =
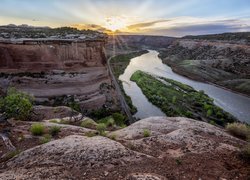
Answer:
[[[84,137],[72,135],[26,150],[7,163],[7,170],[0,179],[41,178],[55,175],[63,167],[70,177],[70,169],[96,169],[126,162],[139,161],[145,155],[125,148],[122,144],[105,137]],[[66,170],[65,170],[66,167]]]

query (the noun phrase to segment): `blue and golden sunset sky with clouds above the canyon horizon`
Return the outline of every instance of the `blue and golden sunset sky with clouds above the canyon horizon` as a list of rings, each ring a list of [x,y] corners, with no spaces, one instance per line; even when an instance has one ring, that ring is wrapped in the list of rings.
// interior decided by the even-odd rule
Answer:
[[[250,0],[0,0],[0,25],[185,36],[250,31]]]

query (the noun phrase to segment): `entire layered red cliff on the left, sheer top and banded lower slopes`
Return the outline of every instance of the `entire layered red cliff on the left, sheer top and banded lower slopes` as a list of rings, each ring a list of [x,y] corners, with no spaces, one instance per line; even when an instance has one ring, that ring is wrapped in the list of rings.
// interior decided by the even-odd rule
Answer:
[[[0,43],[0,89],[15,87],[39,104],[115,108],[105,40],[17,40]]]

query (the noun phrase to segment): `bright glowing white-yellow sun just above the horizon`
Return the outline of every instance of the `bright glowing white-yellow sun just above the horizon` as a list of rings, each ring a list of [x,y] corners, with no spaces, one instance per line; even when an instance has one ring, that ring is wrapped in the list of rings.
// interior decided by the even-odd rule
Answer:
[[[105,28],[111,30],[112,32],[116,32],[118,30],[122,30],[127,27],[127,23],[125,19],[122,17],[114,16],[106,18]]]

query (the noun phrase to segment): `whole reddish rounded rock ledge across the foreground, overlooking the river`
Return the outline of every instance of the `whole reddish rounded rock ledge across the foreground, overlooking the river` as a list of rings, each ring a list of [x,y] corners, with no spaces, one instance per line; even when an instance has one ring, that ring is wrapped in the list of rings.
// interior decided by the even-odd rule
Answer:
[[[204,122],[152,117],[35,146],[2,163],[0,179],[247,179],[245,144]]]

